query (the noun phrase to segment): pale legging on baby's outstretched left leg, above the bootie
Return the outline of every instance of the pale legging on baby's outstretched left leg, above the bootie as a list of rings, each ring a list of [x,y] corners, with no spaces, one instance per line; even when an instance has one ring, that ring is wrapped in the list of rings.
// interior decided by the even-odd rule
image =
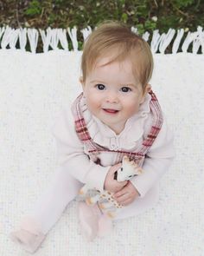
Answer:
[[[43,233],[54,226],[67,204],[75,198],[83,184],[68,173],[67,168],[59,167],[53,182],[36,202],[31,216],[41,223]]]

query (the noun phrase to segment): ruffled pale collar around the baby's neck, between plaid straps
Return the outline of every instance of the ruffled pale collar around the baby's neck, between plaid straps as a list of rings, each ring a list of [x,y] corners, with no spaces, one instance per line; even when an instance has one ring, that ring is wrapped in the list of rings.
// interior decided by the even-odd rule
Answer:
[[[131,118],[126,121],[124,130],[119,135],[116,135],[111,128],[90,113],[86,106],[86,99],[82,97],[80,107],[92,140],[100,146],[112,150],[134,148],[136,141],[143,136],[144,121],[150,113],[150,100],[151,96],[147,94],[137,114],[131,116]]]

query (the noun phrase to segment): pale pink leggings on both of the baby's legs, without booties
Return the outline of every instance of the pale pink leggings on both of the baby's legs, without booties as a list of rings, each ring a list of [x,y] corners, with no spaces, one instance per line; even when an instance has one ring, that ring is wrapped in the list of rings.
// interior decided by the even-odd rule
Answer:
[[[57,168],[50,186],[29,213],[29,217],[33,217],[41,225],[42,233],[48,233],[49,229],[60,219],[67,204],[77,196],[82,186],[83,184],[80,181],[69,174],[67,168]],[[156,186],[150,189],[143,199],[139,198],[131,205],[124,207],[117,214],[115,220],[143,213],[148,208],[153,207],[157,199],[158,187]]]

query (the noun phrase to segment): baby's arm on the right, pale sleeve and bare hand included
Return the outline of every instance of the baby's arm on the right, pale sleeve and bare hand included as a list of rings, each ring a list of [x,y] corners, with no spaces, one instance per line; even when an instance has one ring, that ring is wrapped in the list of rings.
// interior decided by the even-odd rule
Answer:
[[[144,160],[143,174],[132,178],[125,187],[114,194],[115,200],[126,206],[137,197],[143,197],[165,174],[174,156],[173,135],[164,121],[163,128]]]

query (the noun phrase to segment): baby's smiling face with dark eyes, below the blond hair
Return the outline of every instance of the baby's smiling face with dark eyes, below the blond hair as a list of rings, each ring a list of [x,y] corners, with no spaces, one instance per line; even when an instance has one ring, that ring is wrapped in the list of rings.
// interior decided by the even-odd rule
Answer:
[[[137,113],[144,95],[132,73],[131,60],[107,62],[107,57],[100,59],[82,85],[92,115],[119,134],[125,122]]]

